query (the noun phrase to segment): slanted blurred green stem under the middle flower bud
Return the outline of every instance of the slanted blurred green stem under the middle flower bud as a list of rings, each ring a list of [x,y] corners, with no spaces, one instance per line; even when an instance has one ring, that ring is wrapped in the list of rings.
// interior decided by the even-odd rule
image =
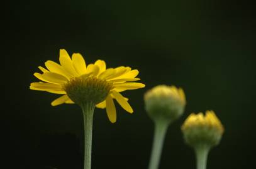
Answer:
[[[165,133],[169,123],[162,120],[155,121],[155,131],[153,136],[153,146],[151,151],[150,163],[148,169],[157,169],[162,153],[162,146],[164,144]]]

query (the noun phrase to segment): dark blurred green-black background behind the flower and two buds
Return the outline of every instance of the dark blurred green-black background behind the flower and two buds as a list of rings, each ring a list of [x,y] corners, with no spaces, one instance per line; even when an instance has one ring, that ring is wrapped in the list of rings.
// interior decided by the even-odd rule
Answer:
[[[82,168],[83,125],[76,105],[29,90],[33,73],[59,49],[87,63],[139,69],[146,84],[126,91],[135,110],[118,120],[94,114],[92,168],[147,168],[153,123],[143,93],[177,85],[186,111],[170,126],[160,168],[195,168],[180,126],[191,112],[214,110],[225,126],[208,168],[253,168],[255,155],[255,11],[250,1],[10,1],[2,6],[3,168]],[[2,163],[1,165],[4,165]],[[2,168],[2,167],[1,167]]]

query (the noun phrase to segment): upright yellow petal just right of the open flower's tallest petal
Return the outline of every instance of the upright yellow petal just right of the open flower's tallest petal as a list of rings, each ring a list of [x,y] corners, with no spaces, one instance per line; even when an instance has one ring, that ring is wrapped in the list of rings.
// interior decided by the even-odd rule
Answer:
[[[80,53],[72,54],[72,62],[79,75],[86,73],[86,61],[84,61],[84,58]]]

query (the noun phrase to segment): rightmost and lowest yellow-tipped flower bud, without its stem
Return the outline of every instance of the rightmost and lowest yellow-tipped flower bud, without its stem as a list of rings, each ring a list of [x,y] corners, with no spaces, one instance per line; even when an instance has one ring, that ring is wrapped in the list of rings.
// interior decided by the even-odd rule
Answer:
[[[214,111],[206,111],[206,115],[192,113],[189,115],[181,127],[185,141],[191,145],[207,144],[209,146],[218,145],[224,132]]]

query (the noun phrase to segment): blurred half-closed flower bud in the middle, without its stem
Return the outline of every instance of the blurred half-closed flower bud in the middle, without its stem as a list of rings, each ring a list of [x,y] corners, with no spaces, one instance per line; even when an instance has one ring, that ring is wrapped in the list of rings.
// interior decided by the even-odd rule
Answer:
[[[152,120],[173,121],[184,112],[186,97],[182,88],[159,85],[144,95],[145,109]]]

